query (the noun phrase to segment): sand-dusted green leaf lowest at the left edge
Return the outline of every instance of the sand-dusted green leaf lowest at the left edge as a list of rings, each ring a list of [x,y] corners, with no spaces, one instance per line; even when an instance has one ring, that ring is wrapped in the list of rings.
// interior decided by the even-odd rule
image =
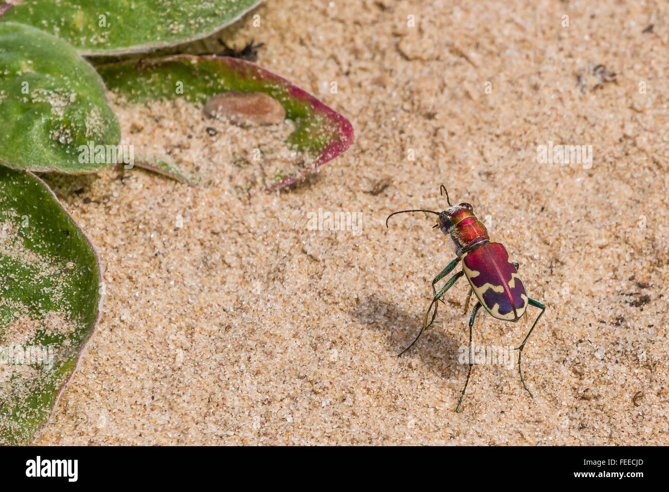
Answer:
[[[28,443],[47,422],[98,319],[100,282],[54,193],[0,167],[0,444]]]

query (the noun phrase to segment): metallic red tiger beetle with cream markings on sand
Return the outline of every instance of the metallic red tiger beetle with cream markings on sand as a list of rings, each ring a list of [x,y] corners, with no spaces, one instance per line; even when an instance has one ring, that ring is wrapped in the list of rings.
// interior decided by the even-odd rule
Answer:
[[[477,302],[469,319],[469,371],[467,373],[467,379],[464,382],[464,388],[462,388],[460,400],[458,400],[456,412],[460,410],[464,392],[467,389],[469,378],[472,375],[472,366],[474,365],[472,363],[472,326],[474,325],[476,313],[478,313],[478,310],[481,307],[496,319],[514,322],[518,321],[518,319],[524,315],[528,305],[541,309],[541,313],[539,313],[539,316],[535,319],[535,323],[520,344],[520,347],[514,349],[518,351],[518,374],[520,374],[520,382],[522,382],[523,388],[525,388],[532,397],[532,392],[527,388],[527,384],[525,384],[525,381],[522,378],[520,356],[522,355],[522,349],[524,349],[525,343],[527,343],[527,339],[529,339],[535,326],[537,326],[539,318],[541,318],[544,311],[546,311],[546,307],[538,301],[527,297],[525,286],[522,284],[520,275],[518,275],[518,263],[509,260],[508,252],[506,252],[506,248],[504,248],[502,244],[498,242],[490,242],[486,226],[476,218],[474,215],[474,208],[472,208],[470,203],[459,203],[455,206],[452,205],[448,198],[448,191],[446,191],[444,185],[440,187],[440,193],[442,195],[446,193],[446,201],[448,202],[449,207],[443,212],[422,209],[400,210],[399,212],[393,212],[385,220],[385,226],[388,227],[388,219],[397,214],[407,214],[409,212],[427,212],[429,214],[435,214],[438,216],[438,224],[436,224],[433,229],[440,228],[444,234],[450,235],[456,250],[456,258],[450,262],[446,268],[434,278],[434,280],[432,280],[432,293],[434,294],[434,297],[423,317],[423,325],[418,332],[418,335],[413,342],[411,342],[411,345],[401,351],[398,356],[413,347],[413,344],[418,341],[423,330],[434,323],[434,319],[437,316],[438,301],[441,300],[442,303],[444,303],[442,296],[444,296],[446,291],[448,291],[448,289],[450,289],[453,284],[464,275],[470,285],[469,295],[467,296],[464,307],[465,313],[467,312],[472,293],[476,296]],[[452,270],[454,270],[460,263],[462,263],[462,270],[454,274],[454,276],[446,282],[444,288],[437,292],[435,286],[437,282],[452,272]],[[432,313],[432,319],[427,323],[429,313],[432,311],[433,306],[434,313]]]

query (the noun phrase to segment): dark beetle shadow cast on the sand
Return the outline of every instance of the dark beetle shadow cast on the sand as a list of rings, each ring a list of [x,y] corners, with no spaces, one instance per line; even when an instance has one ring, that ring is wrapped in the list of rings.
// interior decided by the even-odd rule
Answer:
[[[441,323],[439,321],[443,307],[440,305],[440,312],[433,325],[423,331],[419,340],[401,358],[407,359],[408,363],[408,359],[419,357],[441,378],[460,376],[464,378],[466,365],[458,363],[458,351],[463,344],[466,345],[466,335],[463,335],[462,340],[458,340],[445,332],[444,324],[448,323],[446,321],[448,317],[442,317]],[[372,295],[367,299],[361,299],[352,314],[363,325],[385,333],[387,350],[392,357],[397,357],[397,354],[411,345],[419,333],[424,311],[409,314],[397,307],[397,303]]]

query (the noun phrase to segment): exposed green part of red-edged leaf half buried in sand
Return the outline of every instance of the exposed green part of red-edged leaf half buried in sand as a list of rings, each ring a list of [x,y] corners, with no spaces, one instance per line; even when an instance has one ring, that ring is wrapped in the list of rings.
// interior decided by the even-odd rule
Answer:
[[[177,55],[102,64],[98,72],[110,90],[135,103],[185,98],[204,104],[209,97],[229,90],[264,92],[278,100],[286,118],[296,122],[288,145],[313,157],[314,163],[286,177],[278,176],[271,189],[307,175],[348,149],[353,141],[353,127],[344,116],[288,80],[238,58]]]

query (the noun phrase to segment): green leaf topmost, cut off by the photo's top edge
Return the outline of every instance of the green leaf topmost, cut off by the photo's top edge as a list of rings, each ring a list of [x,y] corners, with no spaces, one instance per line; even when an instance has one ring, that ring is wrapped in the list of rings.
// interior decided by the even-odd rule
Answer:
[[[25,0],[2,17],[57,35],[84,55],[147,52],[206,37],[260,0]]]

